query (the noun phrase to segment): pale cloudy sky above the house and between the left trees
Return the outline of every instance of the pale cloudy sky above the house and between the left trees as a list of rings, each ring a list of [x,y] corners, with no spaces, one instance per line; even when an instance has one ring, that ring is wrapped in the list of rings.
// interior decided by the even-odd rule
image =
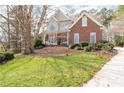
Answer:
[[[36,13],[40,13],[40,8],[41,5],[36,5],[37,9],[36,9]],[[51,9],[52,9],[52,12],[53,10],[56,10],[58,8],[61,8],[63,9],[65,12],[69,12],[71,9],[74,9],[74,11],[76,13],[80,13],[82,10],[90,10],[90,9],[97,9],[97,10],[100,10],[101,8],[103,7],[106,7],[108,9],[113,9],[115,10],[117,8],[117,5],[51,5],[50,6]],[[0,5],[0,13],[5,13],[6,11],[6,6],[3,6],[3,5]],[[35,14],[35,13],[34,13]]]

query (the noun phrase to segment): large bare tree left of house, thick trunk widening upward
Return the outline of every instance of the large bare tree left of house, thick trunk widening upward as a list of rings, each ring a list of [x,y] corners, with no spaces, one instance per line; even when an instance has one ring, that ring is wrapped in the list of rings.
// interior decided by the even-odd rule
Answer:
[[[16,6],[17,11],[15,11],[14,15],[19,24],[19,30],[22,36],[22,52],[24,54],[33,53],[33,45],[32,45],[32,10],[33,6]]]

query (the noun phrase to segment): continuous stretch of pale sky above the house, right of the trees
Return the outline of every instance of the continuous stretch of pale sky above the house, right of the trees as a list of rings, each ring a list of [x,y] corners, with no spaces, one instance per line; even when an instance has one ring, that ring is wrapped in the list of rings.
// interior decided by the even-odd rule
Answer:
[[[76,13],[80,13],[83,10],[90,10],[90,9],[97,9],[98,11],[101,8],[107,8],[107,9],[113,9],[116,10],[117,9],[117,5],[51,5],[51,13],[49,14],[49,16],[53,15],[55,10],[57,10],[58,8],[64,10],[64,12],[68,13],[71,9],[74,10],[74,14]]]

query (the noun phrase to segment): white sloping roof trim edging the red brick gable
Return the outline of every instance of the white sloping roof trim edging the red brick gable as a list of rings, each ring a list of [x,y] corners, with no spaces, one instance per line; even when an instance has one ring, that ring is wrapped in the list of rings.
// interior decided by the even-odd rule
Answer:
[[[77,20],[75,20],[75,22],[69,27],[69,28],[72,28],[83,16],[87,16],[88,18],[90,18],[93,22],[95,22],[97,25],[99,26],[103,26],[100,22],[98,22],[96,19],[94,19],[91,15],[89,15],[88,13],[86,12],[83,12],[78,18]]]

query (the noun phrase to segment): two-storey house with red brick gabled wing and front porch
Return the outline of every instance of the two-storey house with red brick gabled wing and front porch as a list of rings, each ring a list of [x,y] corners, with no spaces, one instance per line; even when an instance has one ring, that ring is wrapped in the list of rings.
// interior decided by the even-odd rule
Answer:
[[[86,12],[73,20],[59,9],[50,18],[47,28],[43,39],[47,45],[95,43],[103,38],[103,26]]]

